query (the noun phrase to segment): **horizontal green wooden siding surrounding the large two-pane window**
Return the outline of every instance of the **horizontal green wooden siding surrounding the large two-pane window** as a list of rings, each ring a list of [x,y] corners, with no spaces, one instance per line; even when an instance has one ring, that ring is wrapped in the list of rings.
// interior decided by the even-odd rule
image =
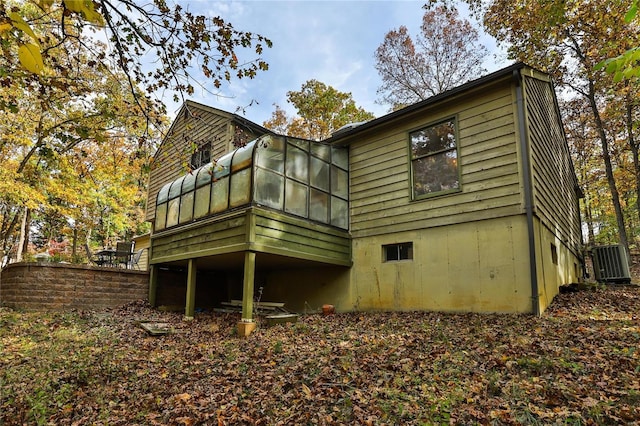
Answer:
[[[477,95],[425,110],[350,144],[354,237],[411,231],[520,214],[515,102],[509,80]],[[455,116],[461,192],[411,200],[408,131]]]

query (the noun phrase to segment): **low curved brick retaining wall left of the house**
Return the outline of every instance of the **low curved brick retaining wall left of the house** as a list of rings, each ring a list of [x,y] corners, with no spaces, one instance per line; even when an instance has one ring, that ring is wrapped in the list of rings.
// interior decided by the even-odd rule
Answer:
[[[0,305],[101,309],[148,298],[149,273],[61,263],[13,263],[0,271]]]

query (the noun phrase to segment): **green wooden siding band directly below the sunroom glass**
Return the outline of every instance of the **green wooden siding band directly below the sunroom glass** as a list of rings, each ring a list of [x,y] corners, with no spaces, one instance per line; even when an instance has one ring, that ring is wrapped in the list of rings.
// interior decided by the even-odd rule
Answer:
[[[351,264],[346,231],[252,207],[152,236],[152,264],[246,250]]]

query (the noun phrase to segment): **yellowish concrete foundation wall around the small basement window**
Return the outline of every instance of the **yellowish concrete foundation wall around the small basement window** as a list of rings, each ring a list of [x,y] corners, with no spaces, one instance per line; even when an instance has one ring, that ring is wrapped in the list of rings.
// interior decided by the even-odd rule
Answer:
[[[531,312],[524,215],[353,240],[352,303],[359,311]],[[413,259],[385,262],[386,244]]]

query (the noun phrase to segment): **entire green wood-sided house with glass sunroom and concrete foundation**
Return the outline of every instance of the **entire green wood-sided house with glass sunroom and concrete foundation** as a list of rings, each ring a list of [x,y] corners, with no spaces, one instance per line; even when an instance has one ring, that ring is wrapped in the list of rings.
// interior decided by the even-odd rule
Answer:
[[[241,299],[248,333],[254,298],[300,312],[538,315],[582,278],[580,190],[553,85],[524,64],[322,142],[183,109],[198,119],[181,111],[149,183],[152,304],[191,317]],[[244,132],[251,142],[232,149]],[[204,149],[217,161],[178,167]]]

